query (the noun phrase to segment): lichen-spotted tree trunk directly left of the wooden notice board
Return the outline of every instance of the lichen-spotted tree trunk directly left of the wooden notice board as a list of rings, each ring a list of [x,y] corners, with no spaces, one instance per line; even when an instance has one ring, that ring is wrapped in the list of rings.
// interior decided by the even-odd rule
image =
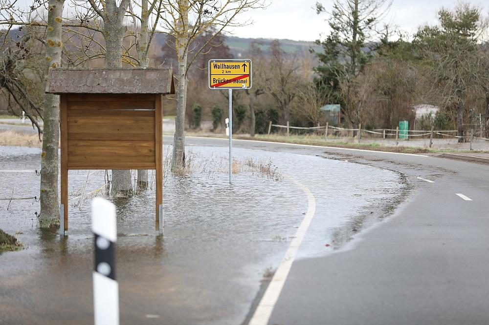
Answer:
[[[45,76],[49,68],[61,65],[61,27],[64,0],[49,0],[46,28]],[[39,225],[52,227],[59,225],[60,209],[58,201],[58,146],[59,146],[59,96],[44,95],[43,151],[41,154],[41,213]]]

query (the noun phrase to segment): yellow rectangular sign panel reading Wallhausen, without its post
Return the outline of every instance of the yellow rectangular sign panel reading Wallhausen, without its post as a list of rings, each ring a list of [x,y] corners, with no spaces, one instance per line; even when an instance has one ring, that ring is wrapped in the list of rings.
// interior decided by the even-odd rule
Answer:
[[[250,89],[251,60],[209,60],[210,89]]]

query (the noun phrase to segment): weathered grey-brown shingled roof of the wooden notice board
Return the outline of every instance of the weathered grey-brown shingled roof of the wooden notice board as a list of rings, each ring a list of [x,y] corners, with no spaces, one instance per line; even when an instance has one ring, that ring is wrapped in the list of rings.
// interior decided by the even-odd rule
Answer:
[[[52,69],[50,94],[174,94],[172,69]]]

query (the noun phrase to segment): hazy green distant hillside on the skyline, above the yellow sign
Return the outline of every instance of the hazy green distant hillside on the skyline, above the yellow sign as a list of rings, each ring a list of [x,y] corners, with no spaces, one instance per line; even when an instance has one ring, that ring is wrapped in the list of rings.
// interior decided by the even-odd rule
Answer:
[[[245,39],[240,37],[228,36],[226,38],[225,44],[229,46],[231,53],[238,57],[241,53],[244,55],[247,53],[252,41],[257,41],[261,43],[260,48],[267,54],[270,48],[270,43],[274,41],[273,39]],[[292,41],[292,40],[279,40],[282,45],[282,49],[287,53],[304,52],[309,51],[312,47],[316,51],[321,51],[321,46],[310,41]]]

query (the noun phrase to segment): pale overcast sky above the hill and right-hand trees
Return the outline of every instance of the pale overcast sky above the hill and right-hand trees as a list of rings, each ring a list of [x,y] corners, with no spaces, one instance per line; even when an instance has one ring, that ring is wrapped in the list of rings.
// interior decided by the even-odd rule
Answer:
[[[253,23],[235,28],[234,36],[250,38],[290,39],[314,41],[320,34],[328,33],[327,14],[316,15],[312,9],[316,0],[267,0],[266,9],[244,13],[240,20],[252,19]],[[332,0],[321,0],[327,10]],[[441,7],[453,8],[454,0],[394,0],[386,20],[412,33],[425,23],[434,24],[436,12]],[[488,13],[488,0],[471,0]]]

